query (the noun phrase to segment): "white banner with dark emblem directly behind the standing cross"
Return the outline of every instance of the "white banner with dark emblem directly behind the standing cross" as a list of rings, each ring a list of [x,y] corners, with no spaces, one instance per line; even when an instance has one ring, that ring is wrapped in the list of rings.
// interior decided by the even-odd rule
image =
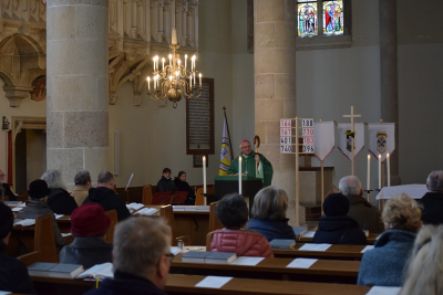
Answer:
[[[339,150],[343,152],[344,157],[351,160],[351,138],[352,127],[350,123],[338,124],[339,129]],[[354,139],[353,139],[353,158],[356,158],[360,151],[364,148],[364,124],[354,123]]]

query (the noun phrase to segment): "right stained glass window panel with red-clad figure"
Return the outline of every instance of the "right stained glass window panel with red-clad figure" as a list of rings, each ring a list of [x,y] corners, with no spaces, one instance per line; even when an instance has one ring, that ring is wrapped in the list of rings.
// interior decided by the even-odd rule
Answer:
[[[343,34],[343,1],[323,1],[323,34]]]

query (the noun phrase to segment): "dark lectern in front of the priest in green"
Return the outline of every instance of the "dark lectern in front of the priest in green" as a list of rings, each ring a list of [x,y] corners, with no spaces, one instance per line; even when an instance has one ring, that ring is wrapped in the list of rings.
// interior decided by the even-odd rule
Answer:
[[[254,197],[262,188],[260,178],[251,176],[241,177],[241,196],[249,198],[249,215],[253,210]],[[216,176],[215,177],[215,198],[220,200],[229,193],[238,193],[238,176]]]

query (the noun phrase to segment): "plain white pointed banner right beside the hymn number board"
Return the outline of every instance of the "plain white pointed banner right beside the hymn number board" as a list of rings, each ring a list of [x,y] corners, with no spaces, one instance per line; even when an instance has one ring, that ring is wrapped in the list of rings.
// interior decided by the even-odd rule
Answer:
[[[333,122],[313,123],[315,156],[322,162],[332,152],[336,145]]]

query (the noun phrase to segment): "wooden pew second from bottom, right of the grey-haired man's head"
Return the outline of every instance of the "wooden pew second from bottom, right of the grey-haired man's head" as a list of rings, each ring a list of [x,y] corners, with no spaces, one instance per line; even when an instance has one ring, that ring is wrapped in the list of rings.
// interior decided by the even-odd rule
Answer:
[[[300,282],[357,284],[359,261],[318,260],[309,268],[286,267],[293,259],[264,259],[256,266],[182,262],[182,254],[174,257],[171,273],[188,275],[220,275],[247,278]]]

